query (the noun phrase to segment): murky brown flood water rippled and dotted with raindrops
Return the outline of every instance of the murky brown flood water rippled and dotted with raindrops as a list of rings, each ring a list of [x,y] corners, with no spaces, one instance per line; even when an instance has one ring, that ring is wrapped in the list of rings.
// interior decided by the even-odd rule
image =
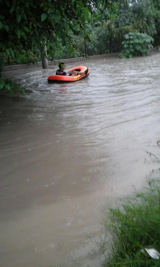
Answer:
[[[70,63],[89,77],[48,84],[48,69],[14,76],[26,96],[1,92],[0,266],[99,266],[104,210],[159,167],[159,62]]]

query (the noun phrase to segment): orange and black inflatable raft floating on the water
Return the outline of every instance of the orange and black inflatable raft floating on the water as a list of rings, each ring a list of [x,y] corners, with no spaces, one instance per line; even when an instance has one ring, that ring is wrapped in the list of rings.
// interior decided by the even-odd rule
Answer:
[[[71,74],[73,70],[75,71],[81,71],[84,72],[87,69],[87,67],[85,66],[78,66],[78,67],[74,67],[72,69],[67,69],[65,70],[67,73]],[[76,82],[79,80],[82,80],[86,77],[88,77],[88,75],[90,74],[90,71],[88,69],[87,74],[78,74],[75,76],[66,76],[66,75],[51,75],[48,77],[48,82],[49,83],[70,83],[70,82]]]

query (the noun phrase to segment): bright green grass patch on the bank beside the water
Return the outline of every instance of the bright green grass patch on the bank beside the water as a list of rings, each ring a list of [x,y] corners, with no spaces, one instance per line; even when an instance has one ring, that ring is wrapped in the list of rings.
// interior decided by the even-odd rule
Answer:
[[[149,182],[150,185],[150,182]],[[107,267],[159,267],[160,259],[152,259],[141,249],[155,248],[160,252],[160,182],[147,193],[140,193],[133,202],[110,209],[110,222],[106,232],[111,255],[106,258]],[[107,218],[108,220],[108,218]]]

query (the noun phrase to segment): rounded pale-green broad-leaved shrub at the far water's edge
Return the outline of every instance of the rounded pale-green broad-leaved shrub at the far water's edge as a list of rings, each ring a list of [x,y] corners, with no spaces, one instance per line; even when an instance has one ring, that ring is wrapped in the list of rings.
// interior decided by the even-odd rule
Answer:
[[[150,52],[154,39],[146,33],[130,32],[124,35],[120,57],[144,56]]]

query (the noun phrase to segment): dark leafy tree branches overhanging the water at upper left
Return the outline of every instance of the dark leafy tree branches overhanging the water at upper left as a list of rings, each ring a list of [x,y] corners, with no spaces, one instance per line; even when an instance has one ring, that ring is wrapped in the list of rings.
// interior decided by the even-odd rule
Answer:
[[[28,51],[44,53],[46,45],[54,53],[58,38],[64,43],[70,40],[69,29],[78,33],[91,15],[90,3],[81,0],[63,1],[63,5],[59,0],[0,0],[0,5],[0,53],[24,62]],[[4,86],[1,81],[0,89]]]

